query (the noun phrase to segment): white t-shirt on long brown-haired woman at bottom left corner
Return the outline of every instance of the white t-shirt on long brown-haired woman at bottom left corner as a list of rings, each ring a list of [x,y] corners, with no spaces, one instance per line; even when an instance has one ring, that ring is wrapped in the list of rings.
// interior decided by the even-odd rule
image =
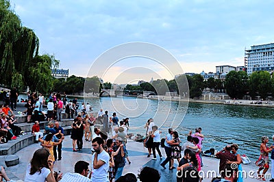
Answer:
[[[33,181],[45,182],[47,179],[47,176],[49,175],[49,173],[51,173],[51,170],[49,170],[48,168],[42,168],[40,174],[39,172],[36,172],[34,173],[34,175],[29,175],[30,168],[31,168],[31,165],[29,164],[29,166],[27,166],[25,182],[33,182]]]

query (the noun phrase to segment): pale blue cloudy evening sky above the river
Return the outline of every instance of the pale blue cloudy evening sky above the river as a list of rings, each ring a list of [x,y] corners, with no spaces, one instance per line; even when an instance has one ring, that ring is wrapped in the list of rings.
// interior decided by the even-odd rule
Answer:
[[[216,65],[244,65],[250,46],[274,42],[271,0],[10,2],[22,25],[38,36],[40,55],[55,55],[69,76],[92,76],[101,69],[104,74],[97,76],[104,82],[127,84],[151,77],[171,80],[183,72],[216,72]],[[145,55],[108,57],[109,65],[94,66],[104,52],[128,42],[162,48],[182,72],[174,60],[162,63]]]

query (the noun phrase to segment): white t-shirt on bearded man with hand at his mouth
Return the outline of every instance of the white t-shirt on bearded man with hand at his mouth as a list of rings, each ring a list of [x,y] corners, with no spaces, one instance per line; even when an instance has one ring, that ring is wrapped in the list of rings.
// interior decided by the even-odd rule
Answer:
[[[91,157],[91,169],[92,169],[92,176],[91,176],[91,181],[92,182],[109,182],[110,180],[108,179],[108,169],[110,168],[110,155],[106,151],[102,151],[97,155],[97,160],[101,160],[105,162],[103,166],[100,168],[93,168],[93,161],[95,158],[95,153],[92,154]]]

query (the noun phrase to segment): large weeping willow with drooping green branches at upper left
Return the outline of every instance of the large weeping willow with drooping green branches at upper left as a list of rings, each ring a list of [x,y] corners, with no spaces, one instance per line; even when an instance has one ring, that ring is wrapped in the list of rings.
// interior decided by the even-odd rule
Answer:
[[[53,87],[51,68],[57,68],[59,61],[51,55],[39,56],[38,49],[34,31],[21,26],[10,1],[0,0],[0,84],[48,93]]]

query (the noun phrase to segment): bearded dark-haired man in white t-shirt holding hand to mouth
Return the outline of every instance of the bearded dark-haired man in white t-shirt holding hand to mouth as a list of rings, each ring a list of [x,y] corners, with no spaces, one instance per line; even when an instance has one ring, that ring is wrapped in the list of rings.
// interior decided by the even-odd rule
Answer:
[[[110,155],[103,149],[103,138],[92,140],[92,148],[95,153],[91,157],[92,182],[109,182],[108,169],[110,168]]]

